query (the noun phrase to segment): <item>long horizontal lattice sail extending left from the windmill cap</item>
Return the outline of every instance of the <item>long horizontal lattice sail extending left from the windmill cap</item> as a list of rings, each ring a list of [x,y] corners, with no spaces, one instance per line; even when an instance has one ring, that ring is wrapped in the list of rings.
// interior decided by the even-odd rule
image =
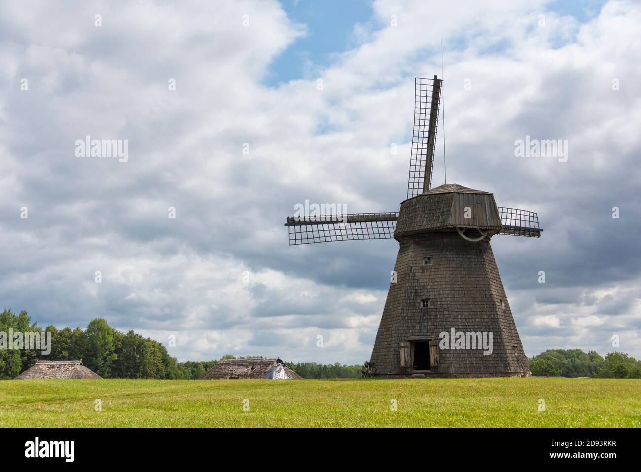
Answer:
[[[397,212],[287,217],[289,245],[353,239],[392,239]]]

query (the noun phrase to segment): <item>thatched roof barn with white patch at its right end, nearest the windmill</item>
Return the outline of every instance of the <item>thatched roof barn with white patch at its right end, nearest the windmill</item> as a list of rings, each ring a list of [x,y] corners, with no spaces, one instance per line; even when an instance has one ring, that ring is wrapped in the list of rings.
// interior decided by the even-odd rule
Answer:
[[[201,380],[220,380],[230,378],[266,378],[288,380],[301,378],[278,357],[226,359],[209,369]]]

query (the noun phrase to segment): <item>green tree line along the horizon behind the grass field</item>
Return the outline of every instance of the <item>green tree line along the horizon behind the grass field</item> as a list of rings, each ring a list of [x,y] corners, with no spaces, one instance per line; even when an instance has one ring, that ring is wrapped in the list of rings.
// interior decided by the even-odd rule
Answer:
[[[113,329],[103,318],[92,319],[85,330],[49,325],[42,329],[22,310],[15,314],[4,310],[0,314],[0,332],[49,332],[51,353],[39,350],[0,349],[0,379],[15,378],[38,359],[78,360],[103,378],[163,378],[197,379],[219,360],[188,360],[178,362],[162,343],[130,330],[122,333]],[[260,357],[260,356],[248,356]],[[237,358],[226,355],[221,358]],[[240,357],[242,358],[242,357]],[[360,378],[362,366],[318,364],[317,362],[286,362],[303,378]],[[528,359],[535,376],[590,378],[641,378],[641,360],[626,353],[611,352],[601,357],[595,351],[553,349]]]

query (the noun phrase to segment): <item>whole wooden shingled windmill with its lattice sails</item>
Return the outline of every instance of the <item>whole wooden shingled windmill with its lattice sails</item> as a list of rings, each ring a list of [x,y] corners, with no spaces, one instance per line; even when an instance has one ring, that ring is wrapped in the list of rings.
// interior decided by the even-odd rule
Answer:
[[[289,244],[395,238],[400,245],[369,361],[376,376],[529,376],[490,247],[540,237],[535,212],[457,184],[431,188],[442,80],[415,79],[407,199],[399,212],[288,217]]]

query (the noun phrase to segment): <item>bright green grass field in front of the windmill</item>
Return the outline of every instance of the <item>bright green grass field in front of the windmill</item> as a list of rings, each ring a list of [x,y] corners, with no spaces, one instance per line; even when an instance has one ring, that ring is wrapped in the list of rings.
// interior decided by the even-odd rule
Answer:
[[[0,426],[639,427],[641,380],[5,380]]]

